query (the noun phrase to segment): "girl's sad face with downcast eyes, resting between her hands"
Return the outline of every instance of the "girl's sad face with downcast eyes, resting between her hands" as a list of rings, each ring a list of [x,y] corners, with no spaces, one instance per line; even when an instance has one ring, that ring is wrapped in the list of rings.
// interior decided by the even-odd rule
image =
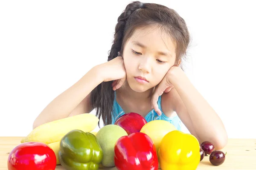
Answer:
[[[137,92],[154,88],[175,64],[175,58],[174,43],[157,27],[134,31],[123,51],[129,86]]]

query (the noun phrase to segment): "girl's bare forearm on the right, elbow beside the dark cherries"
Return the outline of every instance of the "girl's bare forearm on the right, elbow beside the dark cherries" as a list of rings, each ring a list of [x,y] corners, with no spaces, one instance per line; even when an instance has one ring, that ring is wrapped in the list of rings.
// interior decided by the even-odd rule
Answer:
[[[211,141],[217,149],[227,143],[225,127],[213,108],[192,85],[185,74],[172,81],[177,93],[182,99],[197,133],[198,140]]]

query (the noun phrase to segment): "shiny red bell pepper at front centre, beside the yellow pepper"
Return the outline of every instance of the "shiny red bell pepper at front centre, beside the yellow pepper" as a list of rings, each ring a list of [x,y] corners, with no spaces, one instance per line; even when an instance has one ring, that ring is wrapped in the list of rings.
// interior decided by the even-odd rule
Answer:
[[[135,132],[120,137],[114,151],[114,162],[118,170],[158,169],[156,147],[145,133]]]

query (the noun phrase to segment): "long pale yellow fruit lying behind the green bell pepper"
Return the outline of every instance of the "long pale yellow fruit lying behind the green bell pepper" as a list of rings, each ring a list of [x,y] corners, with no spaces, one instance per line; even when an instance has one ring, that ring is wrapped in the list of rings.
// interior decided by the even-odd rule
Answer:
[[[97,127],[98,122],[99,118],[91,113],[55,120],[36,127],[20,142],[43,142],[45,144],[58,142],[61,141],[64,135],[74,129],[90,132]]]

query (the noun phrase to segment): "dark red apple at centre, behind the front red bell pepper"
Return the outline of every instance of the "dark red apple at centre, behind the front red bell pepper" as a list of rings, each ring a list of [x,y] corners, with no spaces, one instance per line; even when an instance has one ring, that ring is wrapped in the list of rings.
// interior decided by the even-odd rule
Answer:
[[[141,128],[147,123],[145,118],[138,113],[126,113],[116,119],[115,125],[122,127],[127,134],[140,132]]]

